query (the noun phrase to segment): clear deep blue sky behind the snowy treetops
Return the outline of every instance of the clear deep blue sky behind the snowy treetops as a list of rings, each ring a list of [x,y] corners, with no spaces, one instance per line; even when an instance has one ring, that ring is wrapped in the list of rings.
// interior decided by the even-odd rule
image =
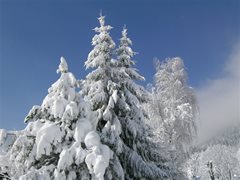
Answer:
[[[180,56],[197,88],[219,75],[239,37],[238,0],[0,0],[0,128],[25,127],[28,111],[58,79],[60,56],[85,77],[100,9],[116,43],[127,25],[145,84],[154,57]]]

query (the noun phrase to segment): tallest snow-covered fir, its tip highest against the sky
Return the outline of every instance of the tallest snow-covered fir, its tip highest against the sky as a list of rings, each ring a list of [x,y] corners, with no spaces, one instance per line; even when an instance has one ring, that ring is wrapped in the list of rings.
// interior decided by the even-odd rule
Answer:
[[[114,82],[116,76],[116,61],[112,59],[115,43],[109,31],[111,26],[105,25],[105,17],[98,18],[100,27],[94,30],[96,34],[92,39],[93,50],[89,53],[85,62],[86,68],[95,68],[89,73],[81,84],[81,94],[91,104],[95,114],[94,127],[105,144],[110,145],[117,142],[117,149],[121,149],[119,139],[121,127],[114,113],[114,105],[117,101],[117,84]],[[108,142],[108,143],[107,143]],[[105,173],[106,179],[123,179],[123,169],[118,157],[114,154],[110,166]]]

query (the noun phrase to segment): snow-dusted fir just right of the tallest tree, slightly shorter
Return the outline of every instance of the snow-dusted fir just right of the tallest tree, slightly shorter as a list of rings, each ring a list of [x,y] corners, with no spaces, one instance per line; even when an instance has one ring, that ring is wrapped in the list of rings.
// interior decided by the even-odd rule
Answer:
[[[124,27],[120,45],[116,50],[120,72],[117,76],[119,98],[116,114],[122,125],[121,138],[124,142],[124,151],[121,154],[124,158],[120,160],[126,178],[164,178],[166,173],[162,169],[167,171],[167,168],[163,166],[164,158],[158,152],[159,149],[156,149],[157,145],[150,141],[152,134],[145,123],[147,117],[142,108],[142,103],[147,102],[149,97],[145,89],[135,83],[136,80],[144,80],[144,77],[132,67],[135,65],[132,57],[136,53],[131,49],[131,45],[132,41],[127,37],[127,29]]]

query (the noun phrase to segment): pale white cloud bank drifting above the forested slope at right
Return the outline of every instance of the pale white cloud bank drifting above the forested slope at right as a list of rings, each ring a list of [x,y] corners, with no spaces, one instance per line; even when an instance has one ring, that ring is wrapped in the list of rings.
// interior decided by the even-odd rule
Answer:
[[[240,43],[226,61],[223,74],[197,90],[201,139],[240,121]]]

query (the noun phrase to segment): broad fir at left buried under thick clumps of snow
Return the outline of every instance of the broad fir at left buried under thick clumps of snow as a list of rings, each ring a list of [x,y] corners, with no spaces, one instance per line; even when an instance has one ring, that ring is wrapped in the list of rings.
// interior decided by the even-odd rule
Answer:
[[[109,150],[94,135],[88,104],[76,93],[77,80],[63,57],[57,72],[60,78],[48,89],[42,105],[33,106],[25,118],[27,127],[1,156],[0,171],[11,179],[89,179],[88,149]],[[102,167],[98,177],[103,179],[100,171]]]

